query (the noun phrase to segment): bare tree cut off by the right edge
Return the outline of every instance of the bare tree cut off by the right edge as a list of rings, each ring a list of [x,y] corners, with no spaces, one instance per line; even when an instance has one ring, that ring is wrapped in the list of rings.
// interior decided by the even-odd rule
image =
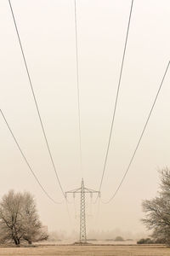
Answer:
[[[153,238],[170,244],[170,170],[165,168],[160,173],[161,191],[156,198],[143,202],[142,221],[148,230],[153,230]]]

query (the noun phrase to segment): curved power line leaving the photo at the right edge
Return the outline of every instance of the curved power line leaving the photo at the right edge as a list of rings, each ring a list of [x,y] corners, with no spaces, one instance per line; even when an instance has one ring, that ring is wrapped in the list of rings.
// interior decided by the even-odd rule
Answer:
[[[160,86],[159,86],[159,89],[157,90],[156,97],[155,97],[155,99],[154,99],[154,102],[153,102],[153,104],[152,104],[152,107],[150,108],[150,113],[149,113],[148,118],[146,119],[146,122],[145,122],[145,124],[144,124],[144,129],[143,129],[142,132],[141,132],[141,135],[140,135],[140,137],[139,137],[139,141],[138,141],[138,143],[137,143],[137,145],[136,145],[136,148],[134,149],[132,158],[131,158],[131,160],[130,160],[128,166],[127,166],[127,170],[126,170],[126,172],[124,173],[124,175],[123,175],[123,177],[122,177],[122,180],[121,180],[121,182],[119,183],[119,185],[118,185],[118,187],[117,187],[115,193],[111,196],[111,199],[110,199],[109,201],[102,201],[102,202],[105,203],[105,204],[111,202],[111,201],[115,198],[117,192],[119,191],[119,189],[121,189],[122,183],[123,183],[125,177],[127,176],[127,172],[129,171],[130,166],[131,166],[132,163],[133,163],[133,159],[134,159],[135,154],[136,154],[136,152],[137,152],[137,150],[138,150],[138,148],[139,148],[139,144],[140,144],[140,142],[141,142],[141,140],[142,140],[142,137],[144,136],[144,131],[145,131],[146,126],[148,125],[148,122],[149,122],[149,120],[150,120],[151,113],[153,112],[153,109],[154,109],[154,107],[155,107],[155,105],[156,105],[157,97],[158,97],[159,94],[160,94],[161,87],[162,87],[162,84],[163,84],[164,79],[165,79],[165,77],[166,77],[169,64],[170,64],[170,61],[168,62],[166,71],[165,71],[165,73],[164,73],[164,75],[163,75],[163,78],[161,79],[161,84],[160,84]]]

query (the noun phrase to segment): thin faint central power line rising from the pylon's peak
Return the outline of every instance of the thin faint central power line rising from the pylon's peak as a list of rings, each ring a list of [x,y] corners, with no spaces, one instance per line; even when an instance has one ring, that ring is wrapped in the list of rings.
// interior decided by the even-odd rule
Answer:
[[[81,131],[81,113],[80,113],[80,86],[79,86],[79,62],[78,62],[78,38],[77,38],[77,0],[74,0],[75,7],[75,39],[77,55],[77,107],[78,107],[78,130],[79,130],[79,149],[80,149],[80,168],[82,172],[82,131]],[[83,173],[82,173],[83,176]]]

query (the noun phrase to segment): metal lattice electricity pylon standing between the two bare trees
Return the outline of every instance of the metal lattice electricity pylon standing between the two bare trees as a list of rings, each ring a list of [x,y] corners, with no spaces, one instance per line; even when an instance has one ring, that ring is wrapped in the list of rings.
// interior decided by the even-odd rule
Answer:
[[[94,193],[98,193],[100,196],[100,192],[94,189],[88,189],[84,186],[84,180],[82,178],[81,188],[79,189],[72,189],[70,191],[65,192],[65,197],[67,194],[72,193],[73,197],[75,198],[76,193],[81,194],[81,201],[80,201],[80,243],[86,243],[86,193],[89,193],[91,196]]]

